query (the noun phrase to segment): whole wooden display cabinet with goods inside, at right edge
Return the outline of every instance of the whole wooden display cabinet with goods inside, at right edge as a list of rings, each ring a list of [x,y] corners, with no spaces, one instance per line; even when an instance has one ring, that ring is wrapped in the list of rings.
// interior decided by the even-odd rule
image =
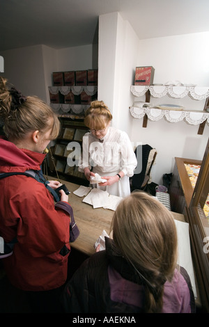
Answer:
[[[171,210],[184,214],[185,221],[189,223],[201,310],[209,312],[209,139],[202,161],[185,158],[175,160],[169,188]],[[187,165],[199,166],[195,182],[187,170]]]

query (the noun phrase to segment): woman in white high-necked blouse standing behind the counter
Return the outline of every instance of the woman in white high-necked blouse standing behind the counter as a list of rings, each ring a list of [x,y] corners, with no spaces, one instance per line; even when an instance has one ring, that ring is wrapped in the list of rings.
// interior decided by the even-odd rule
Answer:
[[[137,159],[125,131],[109,126],[111,119],[111,112],[103,101],[91,102],[84,119],[90,132],[83,138],[79,171],[84,172],[89,181],[98,173],[107,182],[93,184],[93,187],[125,198],[130,195],[129,177],[134,175]]]

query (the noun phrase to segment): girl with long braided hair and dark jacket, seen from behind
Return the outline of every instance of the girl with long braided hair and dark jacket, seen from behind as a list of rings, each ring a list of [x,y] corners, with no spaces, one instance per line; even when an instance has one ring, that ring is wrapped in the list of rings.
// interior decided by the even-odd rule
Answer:
[[[187,271],[177,266],[173,216],[161,202],[138,191],[114,214],[113,239],[87,259],[63,293],[65,312],[195,312]]]

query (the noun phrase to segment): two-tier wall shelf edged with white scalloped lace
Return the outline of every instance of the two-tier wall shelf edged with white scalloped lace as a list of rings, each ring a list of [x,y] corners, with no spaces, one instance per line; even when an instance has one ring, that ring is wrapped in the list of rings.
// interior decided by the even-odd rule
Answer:
[[[209,122],[209,89],[196,88],[195,86],[131,86],[131,92],[135,97],[145,95],[145,102],[139,102],[137,106],[130,106],[130,113],[134,118],[143,118],[143,127],[147,127],[148,119],[157,121],[162,118],[167,118],[169,122],[179,122],[186,120],[190,125],[199,125],[198,134],[203,134],[206,121]],[[159,98],[165,95],[180,99],[182,97],[192,97],[195,100],[206,99],[203,110],[189,110],[172,107],[164,107],[160,105],[148,106],[150,97]],[[146,106],[144,104],[146,103]],[[158,111],[158,113],[157,113]]]

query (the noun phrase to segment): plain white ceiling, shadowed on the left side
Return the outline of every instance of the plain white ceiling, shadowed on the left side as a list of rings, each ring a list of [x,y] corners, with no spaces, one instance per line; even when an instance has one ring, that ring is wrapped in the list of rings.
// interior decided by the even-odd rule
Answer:
[[[209,31],[209,0],[0,0],[0,51],[91,44],[98,16],[116,11],[139,39]]]

